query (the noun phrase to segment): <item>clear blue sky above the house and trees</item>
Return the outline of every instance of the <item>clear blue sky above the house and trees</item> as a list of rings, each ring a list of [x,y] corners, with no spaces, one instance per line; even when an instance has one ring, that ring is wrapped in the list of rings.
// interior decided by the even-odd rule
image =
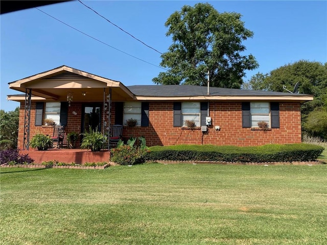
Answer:
[[[161,53],[172,44],[165,22],[183,5],[202,1],[83,1],[111,22]],[[327,62],[326,1],[204,1],[219,12],[238,12],[254,32],[244,42],[260,67],[247,71],[245,81],[257,72],[269,72],[305,59]],[[204,3],[203,2],[203,3]],[[70,26],[145,60],[135,59],[91,39],[32,8],[3,14],[1,21],[0,108],[14,110],[19,103],[6,100],[17,94],[8,83],[61,65],[71,66],[124,85],[153,84],[163,69],[160,54],[136,41],[78,1],[39,7]]]

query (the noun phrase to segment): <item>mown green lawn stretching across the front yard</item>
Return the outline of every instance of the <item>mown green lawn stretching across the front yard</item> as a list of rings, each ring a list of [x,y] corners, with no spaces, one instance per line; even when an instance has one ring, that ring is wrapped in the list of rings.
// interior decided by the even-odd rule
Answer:
[[[2,244],[327,244],[327,165],[1,168]]]

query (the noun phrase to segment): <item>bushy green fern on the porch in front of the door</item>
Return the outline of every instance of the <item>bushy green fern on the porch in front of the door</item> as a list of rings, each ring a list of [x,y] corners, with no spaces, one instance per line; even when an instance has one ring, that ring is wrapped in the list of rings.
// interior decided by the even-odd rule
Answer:
[[[103,135],[99,131],[90,129],[90,132],[83,133],[83,139],[81,143],[82,149],[91,149],[92,152],[99,152],[103,143],[106,142],[107,136]]]

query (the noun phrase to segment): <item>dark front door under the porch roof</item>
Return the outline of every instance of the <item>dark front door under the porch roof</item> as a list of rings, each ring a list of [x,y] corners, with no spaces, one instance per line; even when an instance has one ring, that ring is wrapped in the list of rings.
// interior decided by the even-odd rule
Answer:
[[[90,132],[90,129],[101,132],[101,105],[83,105],[82,112],[82,133]]]

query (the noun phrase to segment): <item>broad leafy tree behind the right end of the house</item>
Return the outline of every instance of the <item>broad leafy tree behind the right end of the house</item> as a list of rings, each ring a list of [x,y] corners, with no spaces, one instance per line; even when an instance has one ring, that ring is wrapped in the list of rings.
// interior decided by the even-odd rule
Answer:
[[[327,63],[299,60],[274,69],[269,74],[259,72],[250,79],[248,87],[254,90],[287,92],[283,87],[293,91],[297,82],[298,92],[314,95],[313,101],[301,106],[303,130],[317,135],[317,132],[324,129],[318,124],[318,116],[322,115],[319,113],[327,110]]]

